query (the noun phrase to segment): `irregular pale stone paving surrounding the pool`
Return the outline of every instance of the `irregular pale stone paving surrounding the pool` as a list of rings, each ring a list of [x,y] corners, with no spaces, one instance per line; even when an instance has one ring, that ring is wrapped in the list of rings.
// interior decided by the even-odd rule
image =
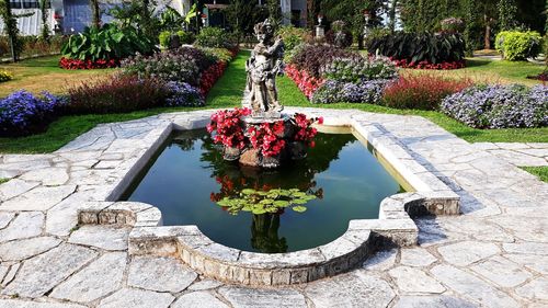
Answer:
[[[290,110],[289,112],[293,112]],[[75,203],[104,201],[164,114],[100,125],[50,155],[0,157],[0,307],[548,307],[548,184],[415,116],[306,110],[378,123],[457,192],[460,216],[416,220],[420,246],[350,273],[253,289],[176,260],[128,256],[125,228],[73,228]]]

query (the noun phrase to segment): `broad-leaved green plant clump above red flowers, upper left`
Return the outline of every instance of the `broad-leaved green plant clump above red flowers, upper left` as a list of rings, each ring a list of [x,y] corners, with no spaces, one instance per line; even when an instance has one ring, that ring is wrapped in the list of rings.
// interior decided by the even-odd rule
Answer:
[[[150,54],[153,50],[153,43],[139,35],[136,28],[105,24],[101,28],[87,27],[82,33],[71,35],[62,46],[61,54],[71,59],[94,61],[123,59],[137,53]]]

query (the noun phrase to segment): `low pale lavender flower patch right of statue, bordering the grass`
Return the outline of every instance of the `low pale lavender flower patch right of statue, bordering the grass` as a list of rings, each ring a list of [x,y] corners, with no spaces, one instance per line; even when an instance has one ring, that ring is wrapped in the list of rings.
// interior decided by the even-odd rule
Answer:
[[[370,80],[358,83],[328,80],[312,94],[315,104],[369,103],[378,104],[383,98],[386,80]]]

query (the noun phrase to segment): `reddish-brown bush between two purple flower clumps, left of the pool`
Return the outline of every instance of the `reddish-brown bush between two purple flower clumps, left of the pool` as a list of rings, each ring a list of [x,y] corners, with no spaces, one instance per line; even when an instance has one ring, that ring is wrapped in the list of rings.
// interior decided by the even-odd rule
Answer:
[[[68,91],[71,114],[124,113],[163,104],[169,89],[156,79],[118,76],[85,82]]]

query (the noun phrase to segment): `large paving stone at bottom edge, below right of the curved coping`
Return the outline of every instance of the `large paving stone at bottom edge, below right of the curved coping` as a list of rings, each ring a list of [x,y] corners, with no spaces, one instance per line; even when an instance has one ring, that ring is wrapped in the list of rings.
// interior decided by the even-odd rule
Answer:
[[[317,308],[387,307],[396,296],[386,281],[363,270],[312,282],[305,293]]]

